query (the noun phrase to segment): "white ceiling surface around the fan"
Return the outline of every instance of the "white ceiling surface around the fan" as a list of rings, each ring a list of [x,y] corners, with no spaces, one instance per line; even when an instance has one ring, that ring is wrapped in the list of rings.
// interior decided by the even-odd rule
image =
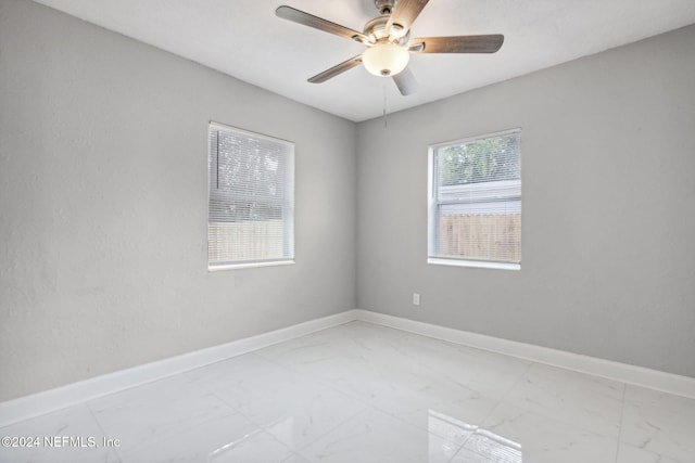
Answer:
[[[695,23],[695,0],[431,0],[413,37],[505,42],[495,54],[413,55],[419,90],[402,97],[362,66],[308,83],[364,46],[275,16],[289,4],[363,30],[374,0],[36,1],[354,121],[380,116],[384,100],[392,113]]]

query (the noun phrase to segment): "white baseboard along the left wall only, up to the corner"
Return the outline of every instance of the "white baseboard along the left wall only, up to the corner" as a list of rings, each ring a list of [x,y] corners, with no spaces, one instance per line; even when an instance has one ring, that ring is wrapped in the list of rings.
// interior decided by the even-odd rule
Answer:
[[[353,310],[0,402],[0,427],[355,320]]]

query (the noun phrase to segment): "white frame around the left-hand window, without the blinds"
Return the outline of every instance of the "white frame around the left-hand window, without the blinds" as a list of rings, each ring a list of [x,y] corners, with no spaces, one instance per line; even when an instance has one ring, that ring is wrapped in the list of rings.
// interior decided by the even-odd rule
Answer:
[[[213,189],[211,182],[211,169],[212,169],[212,146],[211,146],[211,133],[213,130],[217,131],[227,131],[232,132],[235,134],[239,134],[242,137],[252,138],[261,141],[269,141],[273,143],[283,144],[288,147],[288,153],[286,154],[286,168],[285,168],[285,190],[288,198],[286,200],[286,204],[283,207],[289,208],[289,217],[283,218],[282,222],[282,247],[287,248],[288,256],[280,258],[268,258],[268,259],[254,259],[254,260],[230,260],[230,261],[220,261],[215,263],[210,259],[210,223],[211,223],[211,198],[213,197],[224,197],[229,195],[230,193],[222,193],[218,188]],[[295,254],[294,254],[294,158],[295,158],[295,143],[289,140],[285,140],[278,137],[271,137],[264,133],[254,132],[251,130],[241,129],[239,127],[229,126],[226,124],[217,123],[214,120],[210,120],[207,124],[207,271],[216,272],[222,270],[233,270],[233,269],[244,269],[244,268],[255,268],[255,267],[274,267],[274,266],[286,266],[295,263]],[[219,167],[217,167],[219,168]]]

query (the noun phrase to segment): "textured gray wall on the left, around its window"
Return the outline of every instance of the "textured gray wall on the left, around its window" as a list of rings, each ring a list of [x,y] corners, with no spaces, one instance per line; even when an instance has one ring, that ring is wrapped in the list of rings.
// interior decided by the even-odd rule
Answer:
[[[296,143],[296,265],[206,270],[207,121]],[[354,124],[0,1],[0,401],[356,307]]]

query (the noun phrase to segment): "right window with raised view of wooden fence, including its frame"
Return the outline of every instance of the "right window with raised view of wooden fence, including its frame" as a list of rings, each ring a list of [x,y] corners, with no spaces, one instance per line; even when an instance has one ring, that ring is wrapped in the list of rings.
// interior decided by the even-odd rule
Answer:
[[[521,131],[430,146],[428,262],[519,269]]]

